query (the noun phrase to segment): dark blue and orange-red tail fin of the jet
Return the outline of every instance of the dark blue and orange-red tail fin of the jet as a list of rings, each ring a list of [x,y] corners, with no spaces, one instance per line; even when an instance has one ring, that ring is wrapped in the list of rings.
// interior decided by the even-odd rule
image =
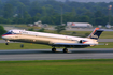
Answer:
[[[89,34],[88,39],[98,40],[103,30],[101,30],[100,28],[95,28],[95,30]]]

